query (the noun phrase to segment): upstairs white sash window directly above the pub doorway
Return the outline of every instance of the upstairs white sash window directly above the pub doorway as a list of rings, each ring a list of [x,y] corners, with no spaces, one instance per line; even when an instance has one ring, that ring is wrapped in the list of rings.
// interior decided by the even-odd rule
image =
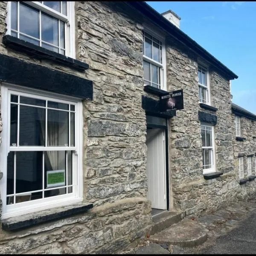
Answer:
[[[143,32],[143,70],[144,85],[164,89],[164,44],[156,38]]]

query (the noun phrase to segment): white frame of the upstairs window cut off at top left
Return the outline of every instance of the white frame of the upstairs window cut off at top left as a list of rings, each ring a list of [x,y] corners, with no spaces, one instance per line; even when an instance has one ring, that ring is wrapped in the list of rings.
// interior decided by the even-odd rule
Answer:
[[[76,46],[75,46],[75,1],[67,1],[67,16],[63,15],[48,6],[39,3],[38,1],[24,1],[29,6],[32,6],[38,10],[46,12],[47,14],[55,17],[65,23],[65,55],[70,58],[76,58]],[[6,17],[6,35],[11,35],[11,1],[7,3],[7,17]],[[27,37],[31,37],[26,35]],[[33,37],[31,37],[33,38]]]

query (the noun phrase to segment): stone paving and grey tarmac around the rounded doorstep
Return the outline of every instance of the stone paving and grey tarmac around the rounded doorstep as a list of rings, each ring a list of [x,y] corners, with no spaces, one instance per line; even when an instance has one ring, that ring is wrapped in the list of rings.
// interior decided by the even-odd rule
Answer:
[[[239,201],[192,220],[207,230],[204,244],[188,248],[143,241],[121,254],[256,254],[256,200]]]

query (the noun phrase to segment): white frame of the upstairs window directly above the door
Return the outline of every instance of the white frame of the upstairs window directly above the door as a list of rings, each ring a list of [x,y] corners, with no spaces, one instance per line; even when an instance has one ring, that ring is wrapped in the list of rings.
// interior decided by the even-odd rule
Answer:
[[[160,33],[156,33],[154,30],[149,28],[148,26],[144,25],[144,31],[143,31],[143,44],[145,44],[144,40],[144,32],[148,33],[154,38],[157,38],[162,43],[162,62],[160,63],[158,61],[155,61],[148,56],[143,55],[143,61],[147,61],[151,64],[156,65],[157,67],[160,67],[161,69],[161,76],[160,76],[160,88],[161,90],[167,90],[166,89],[166,47],[165,47],[165,36],[161,35]],[[145,49],[145,45],[144,45]],[[143,80],[144,83],[144,80]],[[147,84],[144,84],[144,86]]]

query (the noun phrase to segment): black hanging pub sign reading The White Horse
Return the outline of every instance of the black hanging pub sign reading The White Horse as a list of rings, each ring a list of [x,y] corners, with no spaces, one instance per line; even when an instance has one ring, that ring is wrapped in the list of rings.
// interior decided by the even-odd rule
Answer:
[[[176,90],[160,95],[160,112],[183,109],[183,90]]]

